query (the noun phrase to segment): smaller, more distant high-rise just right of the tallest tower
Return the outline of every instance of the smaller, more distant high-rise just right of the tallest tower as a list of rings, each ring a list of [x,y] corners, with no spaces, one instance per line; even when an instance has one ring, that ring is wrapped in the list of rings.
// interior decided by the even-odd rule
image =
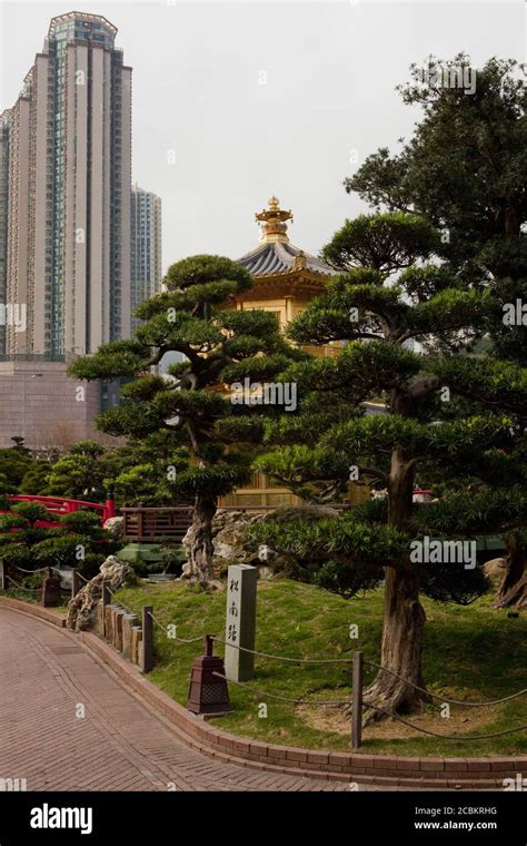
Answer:
[[[131,331],[139,325],[135,311],[161,291],[161,198],[132,185],[130,196]]]

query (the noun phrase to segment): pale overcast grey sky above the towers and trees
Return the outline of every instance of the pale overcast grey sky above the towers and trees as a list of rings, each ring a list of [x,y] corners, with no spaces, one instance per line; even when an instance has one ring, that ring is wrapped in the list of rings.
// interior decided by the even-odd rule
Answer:
[[[133,180],[163,203],[163,266],[257,246],[276,194],[291,240],[318,253],[364,207],[342,179],[409,136],[395,86],[408,66],[465,50],[525,60],[515,2],[0,2],[0,109],[12,106],[50,18],[106,16],[133,68]],[[175,150],[176,164],[169,164]],[[356,154],[354,154],[356,150]]]

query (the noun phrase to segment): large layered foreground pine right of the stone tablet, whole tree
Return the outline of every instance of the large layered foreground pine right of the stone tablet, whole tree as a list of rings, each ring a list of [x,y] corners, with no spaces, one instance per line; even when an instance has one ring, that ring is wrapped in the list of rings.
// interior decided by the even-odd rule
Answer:
[[[349,419],[326,425],[308,445],[314,468],[342,478],[356,468],[359,478],[387,489],[386,502],[352,509],[344,518],[289,527],[261,524],[253,537],[282,553],[318,562],[319,583],[340,592],[370,587],[384,568],[385,616],[379,672],[366,698],[388,711],[420,708],[426,695],[421,673],[425,612],[421,590],[430,596],[467,601],[484,589],[464,561],[437,564],[412,557],[417,541],[474,539],[476,533],[524,524],[527,494],[521,485],[501,492],[456,491],[434,505],[414,505],[419,474],[445,478],[467,473],[473,464],[517,447],[514,417],[527,411],[527,371],[491,356],[467,355],[470,340],[491,321],[496,304],[470,274],[454,274],[437,263],[440,234],[419,216],[404,213],[361,216],[346,222],[324,254],[344,272],[325,294],[294,321],[289,335],[298,344],[345,342],[337,358],[294,365],[301,396],[328,407],[345,401]],[[364,266],[367,265],[367,266]],[[420,352],[407,341],[422,344]],[[311,399],[309,399],[311,397]],[[327,399],[325,399],[327,397]],[[384,399],[387,413],[358,415],[361,403]],[[304,402],[304,400],[302,400]],[[304,406],[297,421],[274,427],[280,461],[296,461],[301,443]],[[355,412],[355,413],[354,413]],[[309,414],[307,415],[307,419]],[[300,437],[299,437],[300,434]],[[289,445],[287,441],[289,439]],[[272,472],[277,455],[260,459]],[[298,472],[301,475],[306,456]],[[459,470],[457,470],[459,468]]]

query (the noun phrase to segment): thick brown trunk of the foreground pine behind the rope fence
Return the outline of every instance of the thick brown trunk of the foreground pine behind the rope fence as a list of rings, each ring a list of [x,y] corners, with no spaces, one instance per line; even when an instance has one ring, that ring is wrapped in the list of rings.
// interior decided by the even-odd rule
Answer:
[[[399,450],[391,455],[388,481],[388,524],[404,531],[411,513],[414,469]],[[409,558],[409,550],[408,550]],[[418,565],[417,565],[418,567]],[[408,560],[397,570],[385,568],[385,614],[380,663],[402,679],[424,688],[421,672],[422,634],[426,614],[419,602],[419,572]],[[428,696],[407,685],[404,680],[379,670],[365,700],[386,711],[409,714],[422,710]],[[382,719],[382,714],[370,710],[366,724]]]

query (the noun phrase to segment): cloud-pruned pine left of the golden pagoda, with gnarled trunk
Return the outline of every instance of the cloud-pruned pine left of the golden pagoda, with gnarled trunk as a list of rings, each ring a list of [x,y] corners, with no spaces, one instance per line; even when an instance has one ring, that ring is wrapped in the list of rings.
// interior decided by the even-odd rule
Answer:
[[[250,474],[250,445],[261,439],[262,416],[278,409],[235,403],[243,392],[229,386],[272,378],[294,353],[275,315],[231,311],[232,296],[252,284],[248,272],[220,256],[193,256],[172,265],[168,291],[143,303],[135,337],[106,344],[72,365],[81,378],[126,377],[122,402],[103,412],[101,431],[135,440],[163,437],[171,444],[159,494],[192,501],[190,567],[202,584],[213,581],[212,519],[218,498]],[[182,361],[166,378],[152,372],[167,353]],[[156,445],[152,443],[152,458]],[[182,459],[187,451],[188,460]]]

